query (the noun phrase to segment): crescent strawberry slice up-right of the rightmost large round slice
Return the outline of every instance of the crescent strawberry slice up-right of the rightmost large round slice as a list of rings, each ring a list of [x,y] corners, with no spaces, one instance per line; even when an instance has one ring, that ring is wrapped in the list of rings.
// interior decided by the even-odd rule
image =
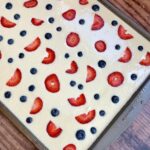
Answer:
[[[124,52],[124,55],[118,60],[122,63],[127,63],[131,60],[132,58],[132,52],[130,50],[130,48],[126,48],[125,52]]]

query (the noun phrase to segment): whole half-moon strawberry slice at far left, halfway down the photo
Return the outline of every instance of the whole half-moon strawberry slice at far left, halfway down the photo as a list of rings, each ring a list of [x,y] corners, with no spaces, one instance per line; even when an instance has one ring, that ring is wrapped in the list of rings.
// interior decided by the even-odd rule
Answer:
[[[17,86],[22,79],[22,73],[20,71],[20,69],[16,69],[13,76],[8,80],[8,82],[6,83],[7,86]]]

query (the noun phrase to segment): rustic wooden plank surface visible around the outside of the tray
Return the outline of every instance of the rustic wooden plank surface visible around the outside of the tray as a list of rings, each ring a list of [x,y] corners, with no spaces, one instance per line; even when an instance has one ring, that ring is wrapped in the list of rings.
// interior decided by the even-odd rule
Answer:
[[[150,32],[150,0],[110,0]],[[150,150],[150,101],[133,124],[108,150]],[[36,150],[35,146],[0,113],[0,150]]]

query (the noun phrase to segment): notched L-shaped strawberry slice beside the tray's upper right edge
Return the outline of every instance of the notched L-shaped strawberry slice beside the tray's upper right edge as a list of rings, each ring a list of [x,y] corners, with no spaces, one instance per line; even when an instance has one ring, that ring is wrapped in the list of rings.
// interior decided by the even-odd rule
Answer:
[[[121,39],[123,40],[129,40],[129,39],[132,39],[133,38],[133,35],[129,34],[129,33],[126,33],[127,30],[122,26],[120,25],[119,28],[118,28],[118,35]]]

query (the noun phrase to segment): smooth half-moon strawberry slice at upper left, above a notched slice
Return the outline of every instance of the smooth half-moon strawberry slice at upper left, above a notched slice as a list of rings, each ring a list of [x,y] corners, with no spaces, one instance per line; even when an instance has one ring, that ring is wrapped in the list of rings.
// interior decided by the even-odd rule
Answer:
[[[41,40],[39,37],[37,37],[32,43],[30,43],[28,46],[26,46],[24,49],[27,52],[32,52],[35,51],[39,48],[39,46],[41,45]]]

